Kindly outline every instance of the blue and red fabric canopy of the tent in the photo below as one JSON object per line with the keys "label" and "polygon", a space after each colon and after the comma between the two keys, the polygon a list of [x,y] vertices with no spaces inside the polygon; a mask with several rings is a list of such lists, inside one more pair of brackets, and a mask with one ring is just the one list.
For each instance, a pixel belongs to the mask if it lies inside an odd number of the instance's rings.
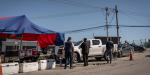
{"label": "blue and red fabric canopy of the tent", "polygon": [[41,48],[48,45],[64,45],[65,34],[52,31],[31,22],[25,15],[0,18],[0,38],[16,38],[23,34],[22,40],[38,41]]}

